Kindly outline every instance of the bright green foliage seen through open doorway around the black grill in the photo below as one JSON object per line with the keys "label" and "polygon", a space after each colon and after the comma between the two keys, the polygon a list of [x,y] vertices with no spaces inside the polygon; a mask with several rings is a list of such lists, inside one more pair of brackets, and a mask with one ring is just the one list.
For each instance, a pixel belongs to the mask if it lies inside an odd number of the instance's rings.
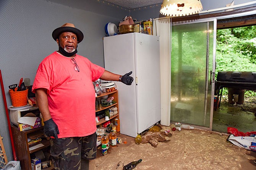
{"label": "bright green foliage seen through open doorway around the black grill", "polygon": [[[256,72],[256,26],[217,30],[216,78],[218,71]],[[227,89],[223,90],[227,95]],[[245,91],[245,97],[256,92]]]}

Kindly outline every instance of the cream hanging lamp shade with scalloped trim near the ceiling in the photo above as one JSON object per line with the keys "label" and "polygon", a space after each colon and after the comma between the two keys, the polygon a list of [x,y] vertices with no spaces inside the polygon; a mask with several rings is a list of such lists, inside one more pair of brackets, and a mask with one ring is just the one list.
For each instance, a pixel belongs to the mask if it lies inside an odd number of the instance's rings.
{"label": "cream hanging lamp shade with scalloped trim near the ceiling", "polygon": [[185,16],[203,10],[200,0],[164,0],[160,13],[166,16]]}

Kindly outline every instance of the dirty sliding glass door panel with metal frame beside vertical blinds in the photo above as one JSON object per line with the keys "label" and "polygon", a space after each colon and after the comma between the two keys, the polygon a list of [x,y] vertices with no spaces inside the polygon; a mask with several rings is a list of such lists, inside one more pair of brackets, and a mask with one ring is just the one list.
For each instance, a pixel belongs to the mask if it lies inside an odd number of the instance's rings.
{"label": "dirty sliding glass door panel with metal frame beside vertical blinds", "polygon": [[171,121],[211,130],[216,19],[172,25]]}

